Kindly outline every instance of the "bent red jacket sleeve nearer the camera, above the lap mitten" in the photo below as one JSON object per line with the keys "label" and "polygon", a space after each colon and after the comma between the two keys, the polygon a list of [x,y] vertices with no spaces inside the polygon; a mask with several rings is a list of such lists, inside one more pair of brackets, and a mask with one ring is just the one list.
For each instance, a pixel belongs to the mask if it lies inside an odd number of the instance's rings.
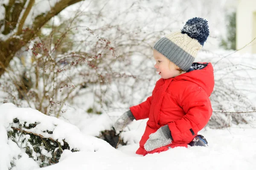
{"label": "bent red jacket sleeve nearer the camera, above the lap mitten", "polygon": [[186,115],[168,124],[173,141],[189,143],[208,123],[212,115],[209,96],[204,90],[190,92],[180,106]]}

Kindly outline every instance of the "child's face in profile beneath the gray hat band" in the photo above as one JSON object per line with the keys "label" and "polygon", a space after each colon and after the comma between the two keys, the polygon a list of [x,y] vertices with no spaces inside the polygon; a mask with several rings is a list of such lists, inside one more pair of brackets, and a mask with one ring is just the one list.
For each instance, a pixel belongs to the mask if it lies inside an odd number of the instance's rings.
{"label": "child's face in profile beneath the gray hat band", "polygon": [[156,64],[154,68],[157,69],[159,75],[163,79],[174,78],[180,74],[182,74],[178,69],[178,66],[175,63],[170,63],[169,59],[162,55],[157,50],[153,50],[154,59],[156,60]]}

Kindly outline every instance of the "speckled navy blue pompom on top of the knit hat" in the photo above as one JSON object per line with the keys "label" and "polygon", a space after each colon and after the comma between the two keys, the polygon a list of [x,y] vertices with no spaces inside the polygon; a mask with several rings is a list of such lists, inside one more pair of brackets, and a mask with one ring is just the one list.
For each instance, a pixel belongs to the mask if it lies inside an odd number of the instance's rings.
{"label": "speckled navy blue pompom on top of the knit hat", "polygon": [[181,33],[198,40],[198,42],[204,46],[204,42],[209,36],[209,26],[207,22],[208,21],[203,18],[194,17],[186,22]]}

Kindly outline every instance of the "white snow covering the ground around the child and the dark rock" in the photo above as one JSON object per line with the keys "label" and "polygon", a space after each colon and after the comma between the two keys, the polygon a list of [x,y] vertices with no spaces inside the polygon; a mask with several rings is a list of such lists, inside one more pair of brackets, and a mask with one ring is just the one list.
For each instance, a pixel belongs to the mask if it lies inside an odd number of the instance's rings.
{"label": "white snow covering the ground around the child and the dark rock", "polygon": [[[35,109],[18,108],[13,104],[0,105],[0,170],[8,170],[10,161],[17,157],[12,170],[36,170],[38,164],[29,158],[24,150],[17,147],[13,141],[7,139],[6,130],[10,130],[10,123],[14,118],[27,123],[41,122],[33,132],[44,134],[44,130],[56,127],[51,138],[65,139],[71,148],[81,151],[72,153],[64,150],[59,163],[41,168],[42,170],[254,170],[256,168],[256,129],[250,126],[230,127],[221,130],[205,128],[201,130],[208,142],[208,147],[177,147],[163,153],[146,156],[136,155],[138,140],[145,128],[146,120],[134,121],[123,132],[128,145],[120,146],[117,150],[107,142],[81,133],[74,125],[60,119],[44,115]],[[109,113],[115,115],[116,113]],[[98,119],[105,119],[109,115],[99,115]],[[114,117],[114,116],[113,116]],[[115,118],[105,119],[105,128],[111,127]],[[95,126],[100,122],[87,126],[87,131],[98,132]],[[86,126],[86,125],[85,125]]]}

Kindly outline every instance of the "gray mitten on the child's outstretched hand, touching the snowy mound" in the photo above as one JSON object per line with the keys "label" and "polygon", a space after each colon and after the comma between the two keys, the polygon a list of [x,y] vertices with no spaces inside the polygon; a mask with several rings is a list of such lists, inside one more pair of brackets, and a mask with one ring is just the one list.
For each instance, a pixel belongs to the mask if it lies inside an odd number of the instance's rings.
{"label": "gray mitten on the child's outstretched hand, touching the snowy mound", "polygon": [[128,124],[134,120],[134,115],[131,113],[131,110],[122,114],[115,122],[114,128],[116,131],[122,131]]}

